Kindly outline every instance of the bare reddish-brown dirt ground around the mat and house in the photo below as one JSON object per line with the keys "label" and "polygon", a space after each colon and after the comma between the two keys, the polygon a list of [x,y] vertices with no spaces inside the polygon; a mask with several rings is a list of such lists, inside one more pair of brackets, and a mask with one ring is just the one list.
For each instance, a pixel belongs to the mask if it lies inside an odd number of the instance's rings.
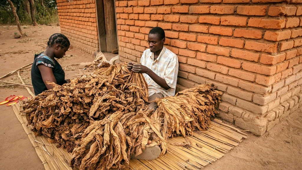
{"label": "bare reddish-brown dirt ground around the mat and house", "polygon": [[[17,27],[0,26],[0,77],[30,64],[33,54],[45,49],[50,35],[60,32],[59,27],[47,25],[23,26],[22,29],[28,37],[14,39]],[[65,70],[66,78],[76,78],[89,71],[83,70],[80,63],[92,61],[93,56],[76,48],[70,49],[72,51],[67,51],[67,56],[59,63]],[[21,76],[25,83],[31,84],[30,68],[23,70]],[[17,74],[1,80],[21,83]],[[4,83],[0,82],[0,85]],[[11,94],[30,96],[20,86],[0,87],[0,100]],[[11,107],[0,106],[0,109],[0,169],[44,169]],[[261,137],[249,133],[247,139],[204,170],[302,169],[301,112],[302,108],[298,109]]]}

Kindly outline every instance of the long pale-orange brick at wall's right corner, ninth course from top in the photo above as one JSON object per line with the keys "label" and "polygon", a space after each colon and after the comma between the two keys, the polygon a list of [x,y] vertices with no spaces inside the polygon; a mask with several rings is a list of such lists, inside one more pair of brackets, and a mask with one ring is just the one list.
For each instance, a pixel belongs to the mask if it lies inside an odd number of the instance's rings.
{"label": "long pale-orange brick at wall's right corner, ninth course from top", "polygon": [[261,95],[263,95],[265,93],[268,93],[271,90],[271,86],[264,87],[264,86],[259,85],[259,84],[248,83],[248,82],[245,82],[243,80],[239,80],[238,87],[240,87],[244,90],[248,90],[248,91],[251,91],[251,92],[261,94]]}

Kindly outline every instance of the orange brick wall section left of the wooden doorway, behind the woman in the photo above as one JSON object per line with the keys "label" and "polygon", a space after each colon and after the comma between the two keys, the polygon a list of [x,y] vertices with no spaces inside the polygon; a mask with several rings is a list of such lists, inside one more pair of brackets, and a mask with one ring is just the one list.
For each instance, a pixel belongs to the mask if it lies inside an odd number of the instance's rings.
{"label": "orange brick wall section left of the wooden doorway, behind the woman", "polygon": [[99,49],[95,0],[56,0],[61,33],[89,54]]}

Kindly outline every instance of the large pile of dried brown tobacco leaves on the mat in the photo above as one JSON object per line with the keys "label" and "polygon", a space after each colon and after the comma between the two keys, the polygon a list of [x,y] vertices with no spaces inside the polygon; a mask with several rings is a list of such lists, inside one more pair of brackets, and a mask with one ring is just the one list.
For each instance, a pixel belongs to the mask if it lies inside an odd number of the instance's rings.
{"label": "large pile of dried brown tobacco leaves on the mat", "polygon": [[72,152],[70,166],[89,170],[127,169],[130,155],[154,145],[165,154],[170,137],[208,128],[221,95],[213,84],[199,85],[156,99],[154,112],[143,74],[127,64],[102,63],[68,84],[49,84],[53,89],[24,103],[22,113],[36,135]]}

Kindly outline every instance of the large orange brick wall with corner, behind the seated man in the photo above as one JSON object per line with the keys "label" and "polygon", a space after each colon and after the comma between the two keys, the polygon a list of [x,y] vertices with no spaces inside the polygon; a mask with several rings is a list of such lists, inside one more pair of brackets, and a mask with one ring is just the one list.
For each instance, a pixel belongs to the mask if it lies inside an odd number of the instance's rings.
{"label": "large orange brick wall with corner, behind the seated man", "polygon": [[302,101],[302,0],[116,2],[119,55],[140,61],[153,27],[178,56],[177,90],[214,83],[218,116],[262,135]]}

